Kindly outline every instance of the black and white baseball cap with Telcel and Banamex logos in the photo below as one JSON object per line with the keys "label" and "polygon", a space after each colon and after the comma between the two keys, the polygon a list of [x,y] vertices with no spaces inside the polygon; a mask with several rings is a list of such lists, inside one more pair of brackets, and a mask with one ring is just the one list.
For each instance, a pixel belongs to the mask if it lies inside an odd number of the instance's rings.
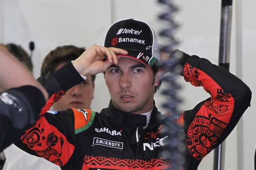
{"label": "black and white baseball cap with Telcel and Banamex logos", "polygon": [[160,51],[154,30],[144,21],[127,19],[113,23],[108,29],[104,47],[116,47],[128,51],[130,57],[146,66],[152,66],[160,61]]}

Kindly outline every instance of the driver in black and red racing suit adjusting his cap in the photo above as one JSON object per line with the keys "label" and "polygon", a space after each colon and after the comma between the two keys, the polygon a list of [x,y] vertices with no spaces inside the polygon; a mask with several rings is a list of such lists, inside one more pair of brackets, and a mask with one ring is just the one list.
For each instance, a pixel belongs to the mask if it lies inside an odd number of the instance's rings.
{"label": "driver in black and red racing suit adjusting his cap", "polygon": [[[184,111],[183,116],[186,169],[197,169],[250,106],[251,91],[228,70],[198,56],[178,50],[172,53],[178,54],[185,80],[203,86],[211,96]],[[109,107],[100,113],[74,108],[45,113],[17,145],[63,170],[172,166],[168,155],[160,154],[166,150],[169,137],[163,133],[168,129],[158,120],[163,115],[154,105],[162,74],[159,61],[158,43],[147,23],[133,19],[114,23],[106,33],[104,47],[93,45],[54,73],[56,80],[66,74],[67,84],[59,82],[67,89],[66,85],[77,80],[72,76],[104,72],[111,97]]]}

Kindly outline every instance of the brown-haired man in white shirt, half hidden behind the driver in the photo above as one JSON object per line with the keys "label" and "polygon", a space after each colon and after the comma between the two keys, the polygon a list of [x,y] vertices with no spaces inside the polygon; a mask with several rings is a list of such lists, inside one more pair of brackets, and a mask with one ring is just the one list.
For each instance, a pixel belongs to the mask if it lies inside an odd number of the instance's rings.
{"label": "brown-haired man in white shirt, half hidden behind the driver", "polygon": [[[50,51],[42,63],[41,76],[45,78],[47,73],[51,74],[51,72],[58,70],[68,61],[77,59],[80,55],[82,55],[82,53],[84,53],[84,51],[84,48],[76,47],[74,45],[59,46],[56,49]],[[47,101],[43,110],[48,111],[51,106],[51,110],[56,111],[65,110],[71,107],[76,109],[90,109],[92,100],[94,98],[95,78],[96,75],[86,76],[86,80],[70,88],[65,93],[65,95],[62,96],[62,98],[59,100],[57,99],[57,102],[54,100],[55,94],[52,95],[54,97]],[[42,80],[42,78],[39,78],[39,80]],[[48,87],[45,86],[45,88]],[[6,155],[6,163],[4,164],[3,170],[14,170],[20,167],[23,169],[36,168],[37,170],[60,169],[59,166],[56,166],[42,158],[37,158],[26,152],[23,152],[16,146],[9,147],[8,149],[4,150],[4,153]]]}

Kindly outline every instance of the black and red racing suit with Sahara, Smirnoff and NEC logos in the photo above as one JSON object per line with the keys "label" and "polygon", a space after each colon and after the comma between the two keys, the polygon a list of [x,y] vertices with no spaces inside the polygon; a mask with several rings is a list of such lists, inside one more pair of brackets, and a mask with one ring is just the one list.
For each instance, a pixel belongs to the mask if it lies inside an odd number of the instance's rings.
{"label": "black and red racing suit with Sahara, Smirnoff and NEC logos", "polygon": [[[197,169],[202,158],[226,139],[250,106],[251,91],[239,78],[207,59],[185,53],[183,58],[184,79],[203,86],[211,96],[180,117],[186,134],[186,169]],[[56,81],[67,74],[69,80],[65,82],[77,81],[70,76],[79,76],[71,63],[57,74],[42,78],[51,78],[49,81],[59,86],[57,91],[52,90],[45,110],[64,94],[63,89],[68,89],[64,81]],[[159,116],[163,115],[154,105],[148,127],[143,129],[145,115],[120,111],[111,101],[100,113],[74,108],[47,111],[16,145],[63,170],[165,169],[172,162],[159,154],[168,140]]]}

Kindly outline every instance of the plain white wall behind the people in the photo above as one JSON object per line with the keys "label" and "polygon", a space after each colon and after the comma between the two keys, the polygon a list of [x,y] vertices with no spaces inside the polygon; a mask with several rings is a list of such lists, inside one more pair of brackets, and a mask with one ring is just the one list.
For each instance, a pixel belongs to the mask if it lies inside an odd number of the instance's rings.
{"label": "plain white wall behind the people", "polygon": [[[0,1],[0,42],[18,43],[27,51],[29,41],[34,41],[33,52],[34,76],[40,75],[42,59],[46,54],[60,45],[73,44],[90,47],[103,45],[106,30],[112,23],[111,14],[114,11],[115,20],[135,18],[148,22],[156,32],[164,27],[157,19],[158,14],[165,11],[165,6],[156,0],[118,0],[114,1],[115,9],[111,8],[111,0],[1,0]],[[182,19],[178,30],[183,37],[179,49],[188,53],[205,57],[218,64],[220,5],[221,0],[176,0],[180,11],[176,14]],[[234,3],[234,6],[236,3]],[[244,170],[254,167],[254,150],[256,148],[256,1],[242,1],[242,80],[253,92],[252,107],[246,110],[242,117],[244,125]],[[236,36],[235,8],[233,8],[230,72],[236,74]],[[159,37],[160,43],[164,39]],[[182,83],[179,92],[183,99],[181,109],[191,109],[199,101],[209,96],[202,88],[194,88]],[[164,85],[163,85],[164,88]],[[103,75],[96,78],[95,99],[92,109],[100,111],[107,107],[109,95]],[[165,98],[160,92],[156,95],[156,104],[160,107]],[[101,107],[98,107],[101,106]],[[226,140],[225,170],[237,168],[236,129]],[[200,170],[212,170],[213,152],[200,164]]]}

